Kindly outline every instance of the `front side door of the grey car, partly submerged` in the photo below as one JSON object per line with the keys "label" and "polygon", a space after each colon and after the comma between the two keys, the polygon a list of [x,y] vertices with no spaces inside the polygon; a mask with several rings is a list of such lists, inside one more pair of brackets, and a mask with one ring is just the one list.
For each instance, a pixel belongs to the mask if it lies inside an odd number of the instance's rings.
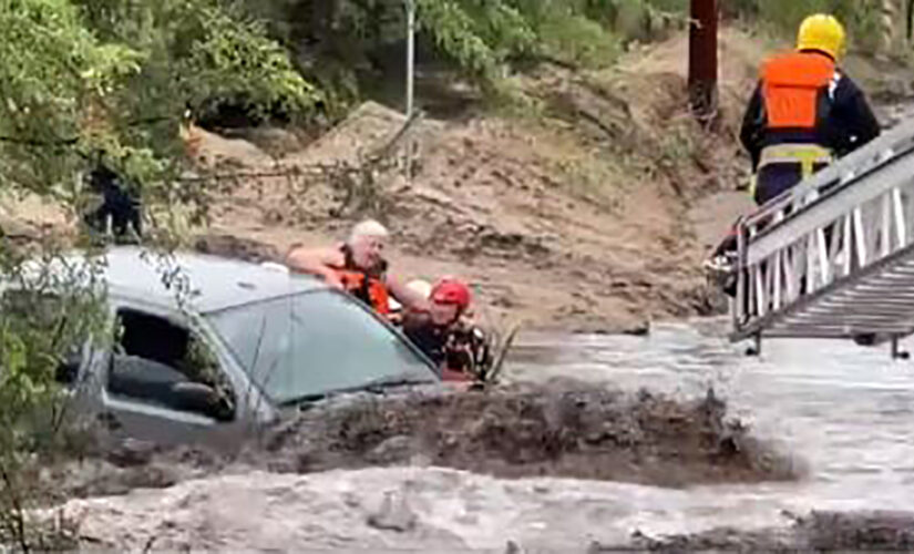
{"label": "front side door of the grey car, partly submerged", "polygon": [[234,361],[176,311],[113,298],[113,347],[102,357],[101,400],[119,439],[232,448],[251,429]]}

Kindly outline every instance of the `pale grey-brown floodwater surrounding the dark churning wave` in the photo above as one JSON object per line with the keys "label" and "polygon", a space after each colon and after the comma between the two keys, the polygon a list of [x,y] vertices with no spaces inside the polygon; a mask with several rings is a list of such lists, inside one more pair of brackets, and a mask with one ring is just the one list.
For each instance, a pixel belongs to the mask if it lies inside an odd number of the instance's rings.
{"label": "pale grey-brown floodwater surrounding the dark churning wave", "polygon": [[[746,345],[723,338],[726,330],[726,321],[702,321],[657,325],[648,337],[527,335],[507,375],[684,400],[705,398],[712,387],[728,417],[793,460],[797,479],[668,488],[624,476],[504,479],[427,460],[315,473],[228,472],[71,501],[68,510],[93,541],[121,547],[152,541],[163,548],[439,552],[505,552],[509,542],[586,552],[630,544],[635,532],[751,533],[785,530],[792,515],[813,511],[914,512],[914,362],[892,361],[886,348],[791,340],[766,342],[762,356],[750,358]],[[831,529],[833,521],[813,526]],[[912,529],[910,520],[897,526]],[[892,540],[886,544],[897,544]]]}

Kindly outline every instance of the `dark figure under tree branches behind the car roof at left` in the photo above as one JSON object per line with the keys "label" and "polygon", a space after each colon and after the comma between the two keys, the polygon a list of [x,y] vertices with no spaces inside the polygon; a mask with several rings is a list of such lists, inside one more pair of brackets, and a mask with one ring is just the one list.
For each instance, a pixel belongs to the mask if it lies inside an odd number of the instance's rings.
{"label": "dark figure under tree branches behind the car roof at left", "polygon": [[86,225],[105,233],[110,220],[115,237],[123,238],[129,227],[137,237],[143,236],[141,203],[125,189],[116,173],[100,163],[89,174],[89,186],[102,195],[102,205],[85,215]]}

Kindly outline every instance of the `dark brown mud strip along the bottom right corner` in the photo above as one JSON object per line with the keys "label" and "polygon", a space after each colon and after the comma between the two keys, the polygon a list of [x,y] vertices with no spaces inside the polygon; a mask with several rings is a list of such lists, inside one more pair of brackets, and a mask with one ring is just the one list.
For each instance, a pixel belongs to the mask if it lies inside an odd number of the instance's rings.
{"label": "dark brown mud strip along the bottom right corner", "polygon": [[[789,515],[789,514],[787,514]],[[894,512],[812,512],[791,516],[784,529],[739,531],[719,529],[695,535],[649,537],[639,532],[633,544],[594,544],[590,553],[618,552],[633,546],[648,552],[822,552],[914,550],[914,514]]]}

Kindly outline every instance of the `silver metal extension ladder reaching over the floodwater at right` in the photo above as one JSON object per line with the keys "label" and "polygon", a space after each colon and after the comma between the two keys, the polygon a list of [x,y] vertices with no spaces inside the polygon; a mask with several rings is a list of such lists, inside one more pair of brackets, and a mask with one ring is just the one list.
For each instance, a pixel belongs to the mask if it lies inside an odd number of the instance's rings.
{"label": "silver metal extension ladder reaching over the floodwater at right", "polygon": [[914,119],[738,224],[732,341],[914,334]]}

